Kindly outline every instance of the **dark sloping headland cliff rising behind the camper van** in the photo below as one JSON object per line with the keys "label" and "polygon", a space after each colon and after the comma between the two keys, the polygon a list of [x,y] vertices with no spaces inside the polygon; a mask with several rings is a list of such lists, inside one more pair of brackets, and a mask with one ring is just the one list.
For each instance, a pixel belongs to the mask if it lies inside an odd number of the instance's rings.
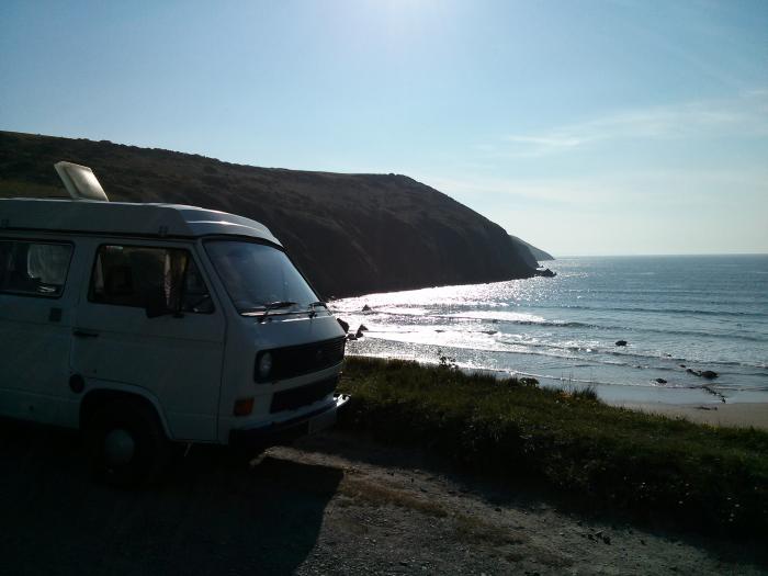
{"label": "dark sloping headland cliff rising behind the camper van", "polygon": [[112,201],[257,219],[323,297],[532,275],[507,233],[406,176],[233,165],[109,142],[0,132],[0,196],[66,195],[54,162],[90,166]]}

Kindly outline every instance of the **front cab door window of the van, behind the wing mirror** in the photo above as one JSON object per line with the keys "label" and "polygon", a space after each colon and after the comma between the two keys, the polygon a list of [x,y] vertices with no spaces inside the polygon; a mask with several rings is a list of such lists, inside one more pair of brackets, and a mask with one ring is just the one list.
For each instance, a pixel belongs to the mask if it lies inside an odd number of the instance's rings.
{"label": "front cab door window of the van, behind the wing mirror", "polygon": [[179,248],[101,246],[88,300],[144,308],[162,302],[169,309],[210,314],[213,302],[190,252]]}

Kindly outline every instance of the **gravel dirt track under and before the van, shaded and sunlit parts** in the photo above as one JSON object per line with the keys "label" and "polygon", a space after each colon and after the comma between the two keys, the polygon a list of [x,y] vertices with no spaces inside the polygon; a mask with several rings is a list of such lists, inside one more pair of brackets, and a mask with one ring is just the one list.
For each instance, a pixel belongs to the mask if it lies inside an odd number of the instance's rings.
{"label": "gravel dirt track under and before the van, shaded and sunlit parts", "polygon": [[0,445],[2,574],[764,573],[734,544],[578,517],[341,434],[249,468],[194,450],[145,493],[92,484],[76,436],[2,422]]}

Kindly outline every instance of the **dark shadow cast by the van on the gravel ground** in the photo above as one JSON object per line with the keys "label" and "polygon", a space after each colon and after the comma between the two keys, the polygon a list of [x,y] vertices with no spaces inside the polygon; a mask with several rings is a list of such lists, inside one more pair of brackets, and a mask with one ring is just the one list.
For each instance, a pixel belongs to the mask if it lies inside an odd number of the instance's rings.
{"label": "dark shadow cast by the van on the gravel ground", "polygon": [[0,421],[3,574],[291,574],[342,473],[199,450],[162,487],[94,484],[77,434]]}

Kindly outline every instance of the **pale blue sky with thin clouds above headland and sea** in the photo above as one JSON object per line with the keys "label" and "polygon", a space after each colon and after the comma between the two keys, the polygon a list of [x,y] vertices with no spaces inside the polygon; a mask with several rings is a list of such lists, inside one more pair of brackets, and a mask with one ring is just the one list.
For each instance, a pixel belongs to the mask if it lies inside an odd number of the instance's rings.
{"label": "pale blue sky with thin clouds above headland and sea", "polygon": [[768,2],[0,2],[0,129],[404,173],[564,255],[768,252]]}

